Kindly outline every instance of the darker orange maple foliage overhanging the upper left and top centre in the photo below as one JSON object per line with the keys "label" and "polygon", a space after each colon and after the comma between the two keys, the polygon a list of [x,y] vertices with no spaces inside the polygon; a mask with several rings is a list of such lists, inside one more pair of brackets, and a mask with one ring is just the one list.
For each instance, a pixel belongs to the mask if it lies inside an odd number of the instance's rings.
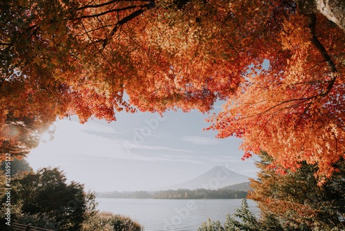
{"label": "darker orange maple foliage overhanging the upper left and top centre", "polygon": [[1,141],[17,142],[7,135],[9,113],[45,124],[72,114],[81,122],[91,116],[112,121],[115,111],[134,107],[208,111],[234,91],[246,65],[230,70],[226,58],[239,59],[213,55],[217,39],[227,40],[198,20],[198,10],[166,3],[141,17],[151,3],[132,4],[1,2]]}

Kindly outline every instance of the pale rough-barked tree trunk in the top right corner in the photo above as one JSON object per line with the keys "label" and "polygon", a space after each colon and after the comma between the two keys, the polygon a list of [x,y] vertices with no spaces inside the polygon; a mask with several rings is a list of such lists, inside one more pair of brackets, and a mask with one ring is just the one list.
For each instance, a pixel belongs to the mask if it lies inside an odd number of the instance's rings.
{"label": "pale rough-barked tree trunk in the top right corner", "polygon": [[345,33],[345,0],[295,0],[306,14],[320,13],[333,21]]}

